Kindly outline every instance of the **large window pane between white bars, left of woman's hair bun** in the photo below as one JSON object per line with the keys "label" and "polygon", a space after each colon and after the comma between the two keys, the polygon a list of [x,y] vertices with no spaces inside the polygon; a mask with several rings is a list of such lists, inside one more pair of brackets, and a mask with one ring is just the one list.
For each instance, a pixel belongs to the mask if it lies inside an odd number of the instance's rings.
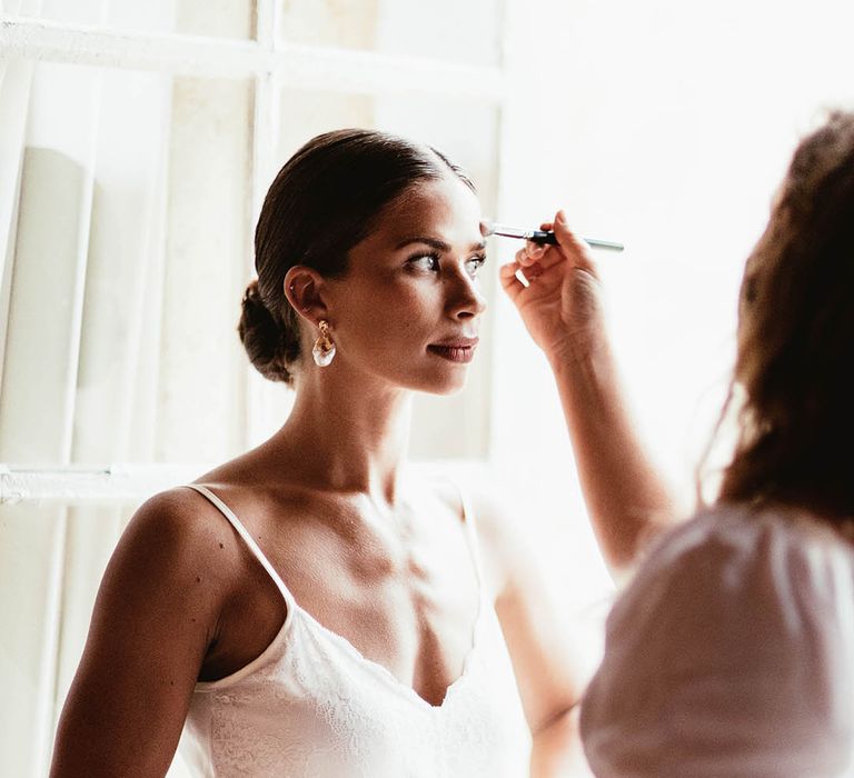
{"label": "large window pane between white bars, left of woman's hair bun", "polygon": [[36,66],[0,296],[0,460],[242,448],[251,100],[245,81]]}

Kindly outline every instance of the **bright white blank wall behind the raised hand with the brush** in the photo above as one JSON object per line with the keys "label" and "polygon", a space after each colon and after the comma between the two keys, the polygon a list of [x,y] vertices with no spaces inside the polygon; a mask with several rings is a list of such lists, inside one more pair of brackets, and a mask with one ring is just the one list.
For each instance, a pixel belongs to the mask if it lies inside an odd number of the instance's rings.
{"label": "bright white blank wall behind the raised hand with the brush", "polygon": [[[854,6],[518,0],[509,14],[499,216],[534,226],[564,207],[583,235],[626,243],[599,256],[616,349],[648,441],[689,495],[772,192],[818,110],[854,104]],[[575,597],[575,572],[605,579],[556,395],[506,302],[497,329],[493,456],[537,496],[530,520],[567,539],[554,565]]]}

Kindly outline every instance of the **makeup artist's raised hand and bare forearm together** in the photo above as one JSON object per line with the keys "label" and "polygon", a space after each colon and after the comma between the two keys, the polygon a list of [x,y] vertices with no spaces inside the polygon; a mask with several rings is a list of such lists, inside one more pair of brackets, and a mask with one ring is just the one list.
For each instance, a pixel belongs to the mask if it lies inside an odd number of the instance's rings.
{"label": "makeup artist's raised hand and bare forearm together", "polygon": [[557,246],[527,243],[502,267],[502,286],[546,352],[590,521],[615,579],[623,580],[648,539],[683,512],[629,412],[587,245],[563,211],[543,229],[555,230]]}

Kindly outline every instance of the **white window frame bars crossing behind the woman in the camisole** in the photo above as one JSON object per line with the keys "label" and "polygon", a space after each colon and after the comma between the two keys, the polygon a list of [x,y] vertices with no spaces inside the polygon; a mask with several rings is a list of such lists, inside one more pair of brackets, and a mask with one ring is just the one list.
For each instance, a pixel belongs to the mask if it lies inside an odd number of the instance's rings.
{"label": "white window frame bars crossing behind the woman in the camisole", "polygon": [[[504,3],[497,3],[506,18]],[[278,3],[257,0],[256,39],[231,40],[185,34],[153,34],[97,26],[61,23],[0,13],[0,61],[31,67],[59,62],[112,69],[167,72],[173,76],[255,80],[252,138],[252,220],[257,218],[278,132],[278,94],[298,87],[344,94],[426,94],[459,98],[493,106],[507,98],[503,63],[474,66],[425,57],[389,56],[321,46],[298,46],[278,39]],[[500,149],[499,149],[500,153]],[[14,229],[14,207],[0,235]],[[4,260],[3,260],[4,261]],[[82,285],[80,293],[82,293]],[[82,303],[82,300],[80,300]],[[4,337],[3,337],[4,339]],[[247,426],[251,436],[258,382],[248,379]],[[58,462],[31,468],[0,465],[0,505],[61,501],[132,502],[176,482],[191,480],[207,463],[103,463],[80,468]]]}

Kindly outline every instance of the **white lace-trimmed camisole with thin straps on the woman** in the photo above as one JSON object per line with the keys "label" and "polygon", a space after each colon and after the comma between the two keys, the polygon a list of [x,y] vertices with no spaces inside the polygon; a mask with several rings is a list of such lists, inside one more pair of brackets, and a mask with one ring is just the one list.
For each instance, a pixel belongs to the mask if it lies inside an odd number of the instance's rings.
{"label": "white lace-trimmed camisole with thin straps on the woman", "polygon": [[181,752],[195,776],[519,778],[530,736],[466,516],[479,608],[461,676],[434,706],[297,605],[252,537],[216,495],[287,605],[278,635],[237,672],[199,682]]}

